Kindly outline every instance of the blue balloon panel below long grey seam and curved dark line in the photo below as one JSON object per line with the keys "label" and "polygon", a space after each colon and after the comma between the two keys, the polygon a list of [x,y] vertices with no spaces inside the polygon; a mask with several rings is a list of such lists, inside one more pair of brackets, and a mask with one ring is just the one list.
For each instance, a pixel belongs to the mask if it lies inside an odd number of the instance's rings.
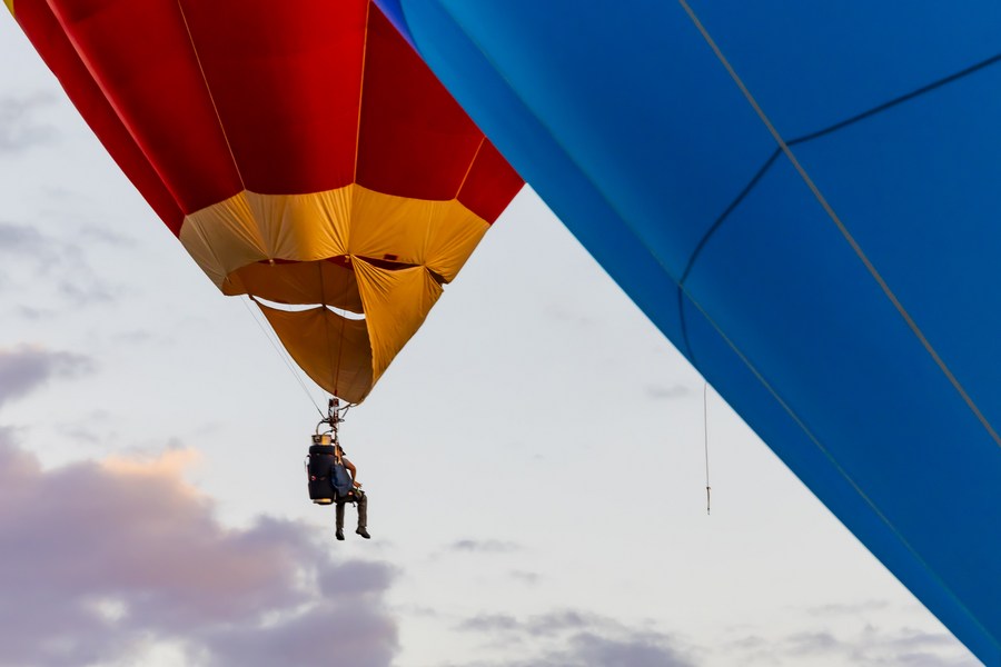
{"label": "blue balloon panel below long grey seam and curved dark line", "polygon": [[998,446],[784,158],[687,289],[906,548],[973,617],[997,614]]}

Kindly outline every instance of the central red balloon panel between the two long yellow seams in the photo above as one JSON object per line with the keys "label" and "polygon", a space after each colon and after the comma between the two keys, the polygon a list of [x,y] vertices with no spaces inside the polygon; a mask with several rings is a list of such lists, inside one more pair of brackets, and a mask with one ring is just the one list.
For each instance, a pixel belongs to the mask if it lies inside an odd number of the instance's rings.
{"label": "central red balloon panel between the two long yellow seams", "polygon": [[182,0],[245,186],[354,180],[367,0]]}

